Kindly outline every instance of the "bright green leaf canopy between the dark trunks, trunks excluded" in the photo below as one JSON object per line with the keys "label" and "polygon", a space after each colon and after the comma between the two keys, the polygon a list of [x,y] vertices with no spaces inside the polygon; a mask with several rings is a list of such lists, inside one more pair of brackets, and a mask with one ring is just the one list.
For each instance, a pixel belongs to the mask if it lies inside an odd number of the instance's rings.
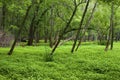
{"label": "bright green leaf canopy between the dark trunks, trunks excluded", "polygon": [[[77,4],[82,0],[76,0]],[[83,0],[84,1],[84,0]],[[102,1],[102,2],[100,2]],[[91,15],[91,11],[93,9],[93,5],[96,0],[91,0],[90,6],[88,8],[87,16],[83,22],[82,28],[86,24],[88,18]],[[105,2],[105,3],[104,3]],[[106,4],[106,2],[110,4]],[[95,13],[91,20],[90,25],[88,26],[88,30],[86,34],[91,35],[107,35],[109,26],[110,26],[110,6],[111,2],[115,2],[115,33],[118,33],[120,30],[119,27],[119,0],[99,0],[98,5],[96,7]],[[117,4],[116,4],[117,3]],[[73,18],[68,31],[71,29],[77,29],[80,24],[80,20],[82,17],[83,10],[85,8],[86,3],[82,3],[78,9],[75,17]],[[74,10],[74,0],[0,0],[0,7],[5,6],[5,31],[9,31],[11,27],[14,27],[10,32],[16,34],[16,28],[20,26],[24,26],[21,37],[28,37],[29,28],[31,25],[32,18],[34,13],[36,12],[36,6],[39,6],[38,13],[36,13],[36,18],[34,20],[34,26],[36,27],[34,37],[39,37],[43,39],[44,37],[50,37],[51,34],[53,38],[55,38],[56,34],[61,33],[65,28],[72,12]],[[23,21],[23,17],[25,16],[26,10],[28,6],[32,6],[28,17],[25,21],[25,25],[21,25]],[[47,10],[47,11],[46,11]],[[51,16],[51,10],[53,10],[53,14]],[[45,12],[46,11],[46,12]],[[45,12],[45,13],[44,13]],[[1,14],[2,16],[2,14]],[[2,20],[2,19],[1,19]],[[52,27],[51,27],[51,21]],[[38,23],[38,24],[36,24]],[[1,23],[2,24],[2,23]],[[117,24],[117,25],[116,25]],[[69,32],[65,35],[65,37],[70,37],[76,33],[77,30]],[[39,36],[36,36],[39,35]],[[88,36],[86,35],[86,36]],[[96,35],[97,37],[97,35]],[[35,39],[35,38],[34,38]]]}

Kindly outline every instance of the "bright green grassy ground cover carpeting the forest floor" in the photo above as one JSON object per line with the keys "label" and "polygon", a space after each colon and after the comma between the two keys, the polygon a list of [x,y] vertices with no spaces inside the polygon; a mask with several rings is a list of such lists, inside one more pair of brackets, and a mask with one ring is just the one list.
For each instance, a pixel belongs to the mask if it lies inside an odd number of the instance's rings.
{"label": "bright green grassy ground cover carpeting the forest floor", "polygon": [[71,54],[67,43],[52,62],[45,61],[51,50],[47,46],[17,46],[12,56],[9,48],[0,48],[0,80],[120,80],[119,45],[105,52],[104,46],[84,43]]}

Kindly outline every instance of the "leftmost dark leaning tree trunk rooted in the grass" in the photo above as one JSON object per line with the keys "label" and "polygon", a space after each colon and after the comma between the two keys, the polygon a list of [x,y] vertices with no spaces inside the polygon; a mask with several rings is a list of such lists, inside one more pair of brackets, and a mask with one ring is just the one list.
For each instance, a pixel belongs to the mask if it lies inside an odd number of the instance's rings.
{"label": "leftmost dark leaning tree trunk rooted in the grass", "polygon": [[16,35],[16,37],[15,37],[15,40],[14,40],[14,42],[13,42],[13,44],[12,44],[12,47],[11,47],[10,51],[8,52],[8,55],[11,55],[11,54],[13,53],[13,50],[14,50],[15,45],[16,45],[16,42],[17,42],[17,40],[18,40],[18,38],[19,38],[19,36],[20,36],[20,33],[21,33],[22,29],[23,29],[23,25],[24,25],[25,22],[26,22],[26,19],[27,19],[27,16],[28,16],[28,14],[29,14],[29,11],[30,11],[30,9],[31,9],[31,6],[32,6],[32,5],[30,5],[30,6],[28,7],[27,11],[26,11],[25,17],[23,18],[23,22],[21,23],[21,25],[20,25],[20,27],[19,27],[18,33],[17,33],[17,35]]}

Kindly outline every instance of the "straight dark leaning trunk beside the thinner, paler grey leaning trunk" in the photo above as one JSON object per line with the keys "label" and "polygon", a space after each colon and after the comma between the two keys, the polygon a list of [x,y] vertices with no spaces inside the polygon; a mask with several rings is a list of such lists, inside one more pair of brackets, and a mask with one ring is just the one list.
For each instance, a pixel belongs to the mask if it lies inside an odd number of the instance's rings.
{"label": "straight dark leaning trunk beside the thinner, paler grey leaning trunk", "polygon": [[78,40],[78,37],[79,37],[79,33],[80,33],[80,31],[81,31],[81,28],[82,28],[83,21],[84,21],[84,18],[85,18],[85,16],[86,16],[86,13],[87,13],[87,9],[88,9],[89,3],[90,3],[90,0],[87,1],[85,10],[84,10],[84,12],[83,12],[83,16],[82,16],[82,19],[81,19],[81,21],[80,21],[80,26],[79,26],[79,28],[78,28],[76,37],[75,37],[75,39],[74,39],[73,47],[72,47],[72,49],[71,49],[71,52],[72,52],[72,53],[74,52],[74,49],[75,49],[75,46],[76,46],[76,43],[77,43],[77,40]]}

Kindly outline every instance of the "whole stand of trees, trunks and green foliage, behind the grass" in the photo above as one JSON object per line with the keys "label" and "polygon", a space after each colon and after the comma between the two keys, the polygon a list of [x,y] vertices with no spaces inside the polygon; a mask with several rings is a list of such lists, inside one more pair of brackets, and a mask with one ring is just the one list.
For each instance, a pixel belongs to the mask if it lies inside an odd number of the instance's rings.
{"label": "whole stand of trees, trunks and green foliage, behind the grass", "polygon": [[120,40],[119,0],[0,0],[0,30],[28,46],[44,40],[52,48],[72,40],[71,52],[82,41],[105,44],[105,51]]}

